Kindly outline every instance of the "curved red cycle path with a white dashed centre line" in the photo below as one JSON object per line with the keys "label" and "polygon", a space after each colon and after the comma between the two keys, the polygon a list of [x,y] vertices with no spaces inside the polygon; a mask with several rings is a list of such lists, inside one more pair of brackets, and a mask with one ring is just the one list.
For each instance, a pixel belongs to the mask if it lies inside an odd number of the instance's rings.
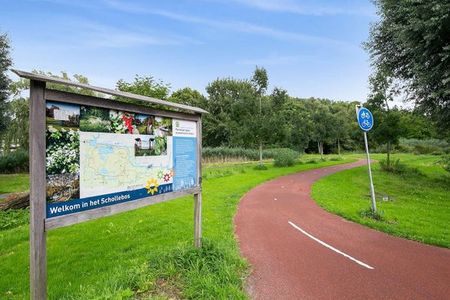
{"label": "curved red cycle path with a white dashed centre line", "polygon": [[314,181],[363,164],[281,177],[242,198],[235,225],[252,298],[450,299],[450,250],[346,221],[311,199]]}

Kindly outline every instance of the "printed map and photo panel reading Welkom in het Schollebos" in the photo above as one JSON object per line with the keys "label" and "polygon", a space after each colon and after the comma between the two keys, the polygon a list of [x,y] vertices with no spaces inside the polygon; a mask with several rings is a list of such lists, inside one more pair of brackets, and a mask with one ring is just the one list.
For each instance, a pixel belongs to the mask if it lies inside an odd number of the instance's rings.
{"label": "printed map and photo panel reading Welkom in het Schollebos", "polygon": [[47,218],[197,185],[196,122],[46,101]]}

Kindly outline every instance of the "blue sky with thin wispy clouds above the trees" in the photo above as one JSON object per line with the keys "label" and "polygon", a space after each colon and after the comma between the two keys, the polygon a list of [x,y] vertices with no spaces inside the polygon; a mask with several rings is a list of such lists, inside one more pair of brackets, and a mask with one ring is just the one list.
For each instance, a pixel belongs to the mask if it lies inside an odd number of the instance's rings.
{"label": "blue sky with thin wispy clouds above the trees", "polygon": [[364,101],[361,43],[377,20],[369,0],[0,0],[14,67],[83,74],[114,88],[152,75],[206,94],[216,78],[250,78],[297,97]]}

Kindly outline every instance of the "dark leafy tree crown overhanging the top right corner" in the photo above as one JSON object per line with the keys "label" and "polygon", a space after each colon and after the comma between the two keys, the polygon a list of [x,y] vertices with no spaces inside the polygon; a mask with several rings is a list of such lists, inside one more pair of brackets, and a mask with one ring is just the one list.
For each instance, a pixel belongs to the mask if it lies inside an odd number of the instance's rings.
{"label": "dark leafy tree crown overhanging the top right corner", "polygon": [[366,43],[375,73],[450,129],[450,2],[374,0],[380,21]]}

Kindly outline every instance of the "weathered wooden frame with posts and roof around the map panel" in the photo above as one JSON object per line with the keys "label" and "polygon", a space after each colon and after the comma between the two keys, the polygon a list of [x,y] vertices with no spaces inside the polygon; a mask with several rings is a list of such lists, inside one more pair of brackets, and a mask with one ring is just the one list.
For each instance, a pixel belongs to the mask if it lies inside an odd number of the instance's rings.
{"label": "weathered wooden frame with posts and roof around the map panel", "polygon": [[[201,247],[202,237],[202,114],[207,113],[201,108],[167,102],[141,95],[95,87],[87,84],[48,77],[44,75],[13,70],[17,75],[30,79],[30,297],[31,299],[47,298],[47,247],[46,232],[50,229],[68,226],[104,216],[113,215],[128,210],[168,201],[186,195],[194,195],[194,243]],[[165,105],[174,110],[153,109],[149,106],[134,105],[107,98],[85,96],[81,94],[62,92],[46,88],[46,82],[88,89],[109,94],[146,101],[154,105]],[[153,195],[133,201],[102,206],[72,214],[46,217],[46,101],[58,101],[79,105],[123,110],[170,117],[196,122],[197,130],[197,185],[193,188]]]}

